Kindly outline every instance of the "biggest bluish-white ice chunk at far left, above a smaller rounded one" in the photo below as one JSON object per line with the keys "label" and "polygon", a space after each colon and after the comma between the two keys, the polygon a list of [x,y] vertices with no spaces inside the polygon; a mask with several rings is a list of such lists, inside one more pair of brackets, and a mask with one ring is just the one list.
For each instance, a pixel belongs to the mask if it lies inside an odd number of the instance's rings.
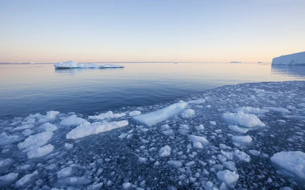
{"label": "biggest bluish-white ice chunk at far left, above a smaller rounded one", "polygon": [[17,147],[19,149],[36,149],[45,145],[52,138],[52,135],[52,131],[45,131],[35,135],[30,135],[23,142],[19,143]]}

